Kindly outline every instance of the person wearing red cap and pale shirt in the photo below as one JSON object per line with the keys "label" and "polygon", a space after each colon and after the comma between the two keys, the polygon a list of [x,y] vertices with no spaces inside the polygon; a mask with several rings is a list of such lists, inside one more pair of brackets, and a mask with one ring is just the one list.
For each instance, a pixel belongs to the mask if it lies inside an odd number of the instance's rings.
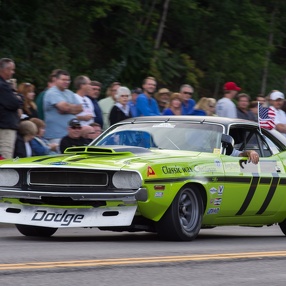
{"label": "person wearing red cap and pale shirt", "polygon": [[216,114],[222,117],[237,118],[236,106],[232,99],[241,90],[235,82],[227,82],[223,86],[224,96],[216,105]]}

